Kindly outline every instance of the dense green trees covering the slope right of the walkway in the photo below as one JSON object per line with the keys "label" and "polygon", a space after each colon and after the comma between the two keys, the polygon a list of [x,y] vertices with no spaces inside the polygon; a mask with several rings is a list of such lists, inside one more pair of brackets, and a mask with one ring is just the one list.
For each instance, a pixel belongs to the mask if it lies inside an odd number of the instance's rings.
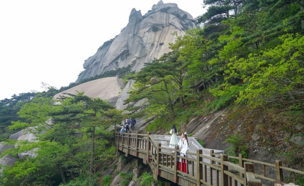
{"label": "dense green trees covering the slope right of the walkway", "polygon": [[[290,148],[284,149],[282,157],[302,170],[303,143],[288,140],[293,135],[303,136],[303,2],[204,3],[209,5],[208,11],[197,18],[204,26],[176,36],[171,52],[130,77],[136,83],[126,102],[135,105],[144,101],[128,109],[134,116],[157,116],[147,127],[150,131],[169,129],[171,124],[183,130],[191,118],[226,107],[258,110],[268,120],[260,128],[246,126],[251,129],[247,134],[268,127],[288,134],[284,141]],[[271,140],[276,138],[267,136],[265,141],[275,143]],[[227,142],[238,146],[239,139],[228,137]],[[241,146],[229,152],[246,154],[248,147]]]}

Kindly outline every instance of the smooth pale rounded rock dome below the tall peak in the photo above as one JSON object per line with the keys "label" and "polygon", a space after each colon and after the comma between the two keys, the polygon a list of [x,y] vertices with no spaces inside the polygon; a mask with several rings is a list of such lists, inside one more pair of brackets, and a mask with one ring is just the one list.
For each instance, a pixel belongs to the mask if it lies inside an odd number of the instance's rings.
{"label": "smooth pale rounded rock dome below the tall peak", "polygon": [[114,106],[119,98],[121,87],[123,86],[124,83],[121,79],[117,77],[108,77],[80,84],[60,92],[54,97],[58,98],[63,95],[63,93],[77,94],[77,92],[84,92],[86,96],[99,97],[107,100],[112,106]]}

